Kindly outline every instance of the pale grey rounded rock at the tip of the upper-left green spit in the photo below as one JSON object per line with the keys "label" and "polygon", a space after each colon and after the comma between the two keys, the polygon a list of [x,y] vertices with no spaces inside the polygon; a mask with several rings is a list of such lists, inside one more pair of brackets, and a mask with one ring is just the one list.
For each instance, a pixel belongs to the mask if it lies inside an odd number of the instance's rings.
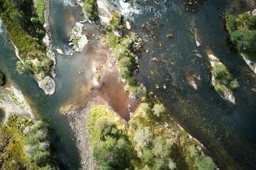
{"label": "pale grey rounded rock at the tip of the upper-left green spit", "polygon": [[38,86],[48,95],[53,95],[55,93],[56,84],[50,77],[45,77],[42,81],[38,81]]}

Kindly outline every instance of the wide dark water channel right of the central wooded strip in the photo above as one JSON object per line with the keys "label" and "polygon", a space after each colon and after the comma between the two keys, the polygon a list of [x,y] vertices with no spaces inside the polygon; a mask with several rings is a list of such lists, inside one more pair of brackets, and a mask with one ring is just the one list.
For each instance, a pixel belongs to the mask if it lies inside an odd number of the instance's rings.
{"label": "wide dark water channel right of the central wooded strip", "polygon": [[[233,13],[252,8],[231,2],[201,1],[196,13],[186,11],[183,1],[175,0],[138,6],[142,14],[135,16],[134,25],[145,41],[145,50],[149,50],[142,54],[138,77],[166,104],[178,123],[206,146],[220,169],[256,169],[256,93],[252,91],[256,78],[228,44],[224,21],[218,16],[229,8]],[[195,30],[201,47],[196,47]],[[171,33],[174,38],[166,38]],[[235,106],[223,101],[210,86],[206,50],[238,79]],[[154,57],[158,62],[151,60]],[[188,86],[186,77],[191,75],[198,91]]]}

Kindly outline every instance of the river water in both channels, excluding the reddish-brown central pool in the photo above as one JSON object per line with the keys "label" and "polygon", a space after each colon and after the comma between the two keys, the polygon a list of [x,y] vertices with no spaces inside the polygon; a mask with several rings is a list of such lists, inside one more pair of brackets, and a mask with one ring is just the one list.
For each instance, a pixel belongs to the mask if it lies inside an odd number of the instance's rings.
{"label": "river water in both channels, excluding the reddish-brown central pool", "polygon": [[[68,51],[67,35],[80,18],[77,13],[80,8],[65,0],[51,0],[50,5],[53,48]],[[149,50],[140,58],[138,79],[161,99],[183,128],[206,146],[220,169],[256,169],[256,95],[251,90],[256,79],[238,52],[227,42],[224,21],[218,16],[227,8],[230,8],[230,3],[221,0],[201,1],[195,13],[186,11],[183,1],[175,0],[159,1],[159,5],[148,2],[137,6],[140,13],[134,14],[132,26],[142,36],[145,50]],[[245,8],[233,10],[239,11],[245,11]],[[143,23],[146,26],[144,29]],[[202,47],[196,47],[195,29]],[[1,30],[4,30],[3,26]],[[51,141],[60,166],[63,169],[78,169],[79,154],[60,108],[71,101],[80,105],[86,100],[90,91],[92,56],[86,49],[74,56],[56,54],[57,89],[53,96],[46,96],[32,77],[18,75],[15,71],[17,58],[8,35],[1,30],[1,69],[8,81],[13,81],[22,89],[33,108],[49,120],[55,134]],[[166,38],[170,33],[174,33],[173,39]],[[210,86],[206,49],[212,50],[238,79],[240,87],[235,90],[235,106],[223,101]],[[160,62],[151,60],[153,57]],[[78,77],[81,70],[85,70],[84,77]],[[188,86],[188,75],[196,77],[198,91]],[[77,84],[80,86],[78,89]],[[156,85],[159,89],[155,88]],[[81,89],[83,92],[79,93]],[[82,101],[73,101],[73,96],[79,95],[83,97]]]}

